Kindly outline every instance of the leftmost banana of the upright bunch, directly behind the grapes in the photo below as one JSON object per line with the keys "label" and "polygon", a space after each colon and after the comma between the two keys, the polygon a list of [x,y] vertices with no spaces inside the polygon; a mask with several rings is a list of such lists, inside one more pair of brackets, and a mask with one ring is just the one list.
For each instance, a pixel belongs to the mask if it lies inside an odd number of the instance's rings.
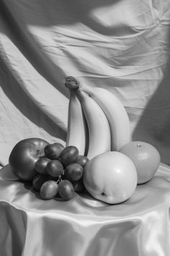
{"label": "leftmost banana of the upright bunch, directly behind the grapes", "polygon": [[78,148],[79,155],[84,155],[85,153],[87,137],[86,129],[86,119],[79,98],[77,98],[75,90],[70,90],[66,147],[74,145]]}

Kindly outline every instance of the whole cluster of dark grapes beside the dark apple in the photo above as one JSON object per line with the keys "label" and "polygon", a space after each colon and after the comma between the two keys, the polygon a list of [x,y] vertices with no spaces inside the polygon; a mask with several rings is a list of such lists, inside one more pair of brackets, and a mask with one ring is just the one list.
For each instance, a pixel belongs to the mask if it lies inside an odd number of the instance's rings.
{"label": "whole cluster of dark grapes beside the dark apple", "polygon": [[49,200],[61,197],[70,200],[74,192],[84,192],[84,166],[89,161],[84,155],[79,155],[75,146],[64,147],[56,142],[48,144],[35,163],[37,175],[32,181],[40,197]]}

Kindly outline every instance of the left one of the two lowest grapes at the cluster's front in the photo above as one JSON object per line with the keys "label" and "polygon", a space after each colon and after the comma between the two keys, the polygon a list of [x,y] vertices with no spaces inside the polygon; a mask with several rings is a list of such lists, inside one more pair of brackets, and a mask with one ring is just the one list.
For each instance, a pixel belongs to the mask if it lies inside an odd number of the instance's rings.
{"label": "left one of the two lowest grapes at the cluster's front", "polygon": [[40,188],[40,196],[45,200],[52,199],[57,195],[57,192],[58,184],[52,180],[43,183]]}

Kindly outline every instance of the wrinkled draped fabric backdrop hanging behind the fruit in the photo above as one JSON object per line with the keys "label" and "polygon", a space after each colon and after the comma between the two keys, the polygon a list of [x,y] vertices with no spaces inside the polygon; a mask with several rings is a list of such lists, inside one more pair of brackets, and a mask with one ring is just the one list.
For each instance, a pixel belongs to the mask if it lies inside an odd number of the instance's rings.
{"label": "wrinkled draped fabric backdrop hanging behind the fruit", "polygon": [[24,138],[65,144],[66,75],[112,91],[170,163],[169,19],[169,0],[1,0],[1,166]]}

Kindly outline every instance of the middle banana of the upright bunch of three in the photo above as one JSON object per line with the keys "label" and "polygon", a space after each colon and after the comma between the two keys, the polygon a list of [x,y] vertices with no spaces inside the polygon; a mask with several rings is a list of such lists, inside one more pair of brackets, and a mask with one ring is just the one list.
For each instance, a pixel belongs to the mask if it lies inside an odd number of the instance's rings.
{"label": "middle banana of the upright bunch of three", "polygon": [[86,122],[89,128],[89,148],[87,158],[91,159],[101,153],[110,150],[109,122],[102,108],[82,90],[76,90],[81,106],[84,110]]}

